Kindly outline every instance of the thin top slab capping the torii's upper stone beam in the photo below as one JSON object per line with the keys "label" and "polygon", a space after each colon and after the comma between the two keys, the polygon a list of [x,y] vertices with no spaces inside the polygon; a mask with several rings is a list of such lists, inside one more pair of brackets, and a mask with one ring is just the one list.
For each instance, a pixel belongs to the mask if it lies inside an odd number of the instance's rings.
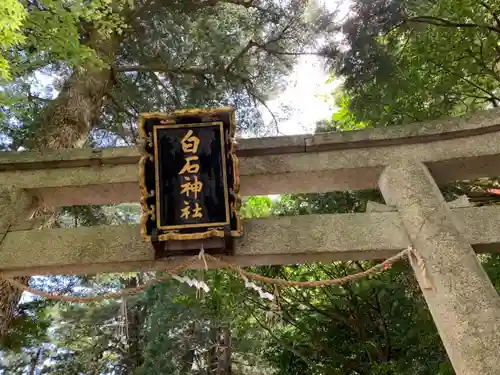
{"label": "thin top slab capping the torii's upper stone beam", "polygon": [[[497,132],[500,129],[500,109],[476,112],[461,117],[450,117],[424,123],[371,128],[350,132],[332,132],[296,136],[238,139],[238,154],[242,157],[284,154],[296,152],[316,152],[322,149],[336,150],[367,148],[374,146],[421,143],[450,138],[474,136]],[[427,137],[424,139],[424,137]],[[373,141],[386,141],[376,143]],[[315,149],[316,147],[316,149]],[[2,152],[0,171],[94,166],[99,164],[133,164],[139,160],[136,147],[110,149],[60,149],[44,151]]]}

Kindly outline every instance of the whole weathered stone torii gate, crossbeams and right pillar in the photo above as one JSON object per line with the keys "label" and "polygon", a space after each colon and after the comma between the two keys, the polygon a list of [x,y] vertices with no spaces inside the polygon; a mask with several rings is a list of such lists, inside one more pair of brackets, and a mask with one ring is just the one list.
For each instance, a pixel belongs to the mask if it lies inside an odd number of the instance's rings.
{"label": "whole weathered stone torii gate, crossbeams and right pillar", "polygon": [[[500,297],[475,254],[500,251],[500,206],[450,207],[438,188],[500,175],[499,110],[387,129],[246,139],[237,153],[243,196],[379,187],[388,207],[251,220],[226,260],[249,266],[382,259],[411,245],[425,261],[432,288],[423,293],[456,373],[500,374]],[[161,270],[181,262],[154,260],[138,226],[33,230],[27,219],[37,204],[138,202],[138,160],[135,148],[2,153],[0,275]]]}

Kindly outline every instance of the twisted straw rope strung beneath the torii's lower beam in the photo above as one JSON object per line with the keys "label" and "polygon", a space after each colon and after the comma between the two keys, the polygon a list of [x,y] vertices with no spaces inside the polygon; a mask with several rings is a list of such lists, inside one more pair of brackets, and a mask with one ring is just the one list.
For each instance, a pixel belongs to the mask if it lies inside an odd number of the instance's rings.
{"label": "twisted straw rope strung beneath the torii's lower beam", "polygon": [[147,283],[140,285],[138,287],[135,287],[135,288],[122,289],[118,292],[106,293],[106,294],[102,294],[102,295],[98,295],[98,296],[75,297],[75,296],[59,295],[56,293],[49,293],[49,292],[45,292],[43,290],[31,288],[31,287],[26,286],[26,285],[14,280],[14,279],[11,279],[11,278],[8,278],[6,280],[8,282],[10,282],[13,286],[15,286],[15,287],[17,287],[25,292],[28,292],[28,293],[31,293],[31,294],[34,294],[34,295],[37,295],[40,297],[44,297],[44,298],[47,298],[50,300],[77,302],[77,303],[78,302],[79,303],[90,303],[90,302],[97,302],[97,301],[103,301],[103,300],[108,300],[108,299],[118,299],[118,298],[121,298],[124,296],[140,293],[140,292],[144,291],[144,289],[146,287],[148,287],[149,285],[156,284],[160,281],[168,280],[171,278],[172,275],[177,275],[177,274],[181,273],[187,267],[189,267],[191,264],[195,263],[198,260],[202,260],[205,264],[205,269],[208,269],[205,258],[212,260],[214,263],[218,264],[220,266],[220,268],[226,268],[226,269],[230,269],[232,271],[235,271],[239,275],[244,276],[247,279],[253,279],[253,280],[256,280],[256,281],[259,281],[262,283],[266,283],[266,284],[271,284],[271,285],[315,288],[315,287],[325,287],[328,285],[341,285],[341,284],[345,284],[345,283],[348,283],[348,282],[351,282],[354,280],[361,279],[363,277],[368,277],[368,276],[386,271],[394,263],[396,263],[397,261],[399,261],[405,257],[409,257],[412,264],[416,263],[417,268],[420,269],[420,272],[421,272],[421,275],[422,275],[422,278],[424,281],[423,288],[430,289],[431,286],[430,286],[429,279],[427,277],[427,270],[425,269],[424,260],[423,260],[422,256],[413,247],[409,247],[409,248],[399,252],[398,254],[388,258],[387,260],[383,261],[382,263],[379,263],[379,264],[377,264],[377,265],[375,265],[375,266],[373,266],[365,271],[355,273],[352,275],[348,275],[348,276],[344,276],[344,277],[341,277],[338,279],[330,279],[330,280],[288,281],[288,280],[284,280],[284,279],[275,279],[275,278],[271,278],[271,277],[266,277],[266,276],[262,276],[262,275],[259,275],[256,273],[245,271],[238,265],[223,261],[222,259],[219,259],[219,258],[216,258],[212,255],[206,254],[203,251],[203,249],[200,251],[200,254],[189,258],[186,262],[178,265],[177,267],[166,270],[166,272],[168,272],[168,275],[166,275],[166,276],[157,277],[155,279],[149,280]]}

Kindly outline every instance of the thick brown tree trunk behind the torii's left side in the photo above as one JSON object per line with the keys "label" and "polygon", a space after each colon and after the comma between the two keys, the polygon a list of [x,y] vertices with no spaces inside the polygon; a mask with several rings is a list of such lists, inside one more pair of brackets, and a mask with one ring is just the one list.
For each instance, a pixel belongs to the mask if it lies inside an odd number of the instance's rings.
{"label": "thick brown tree trunk behind the torii's left side", "polygon": [[[112,63],[119,39],[116,36],[101,38],[98,31],[90,30],[90,42],[100,57]],[[104,52],[105,53],[104,53]],[[92,126],[101,116],[105,94],[113,87],[111,68],[84,70],[75,68],[64,84],[59,96],[45,113],[40,116],[41,129],[26,145],[32,150],[79,148],[85,144]],[[34,217],[45,219],[45,227],[55,222],[56,210],[44,207],[43,202],[36,209]],[[31,251],[31,249],[21,249]],[[36,256],[36,254],[33,254]],[[27,285],[29,277],[16,278]],[[22,291],[0,279],[0,339],[10,327]]]}

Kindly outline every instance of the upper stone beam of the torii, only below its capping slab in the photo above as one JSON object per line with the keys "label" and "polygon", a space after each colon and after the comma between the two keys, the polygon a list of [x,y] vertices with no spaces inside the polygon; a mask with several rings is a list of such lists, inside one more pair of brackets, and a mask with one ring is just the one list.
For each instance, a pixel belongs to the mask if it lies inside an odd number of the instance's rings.
{"label": "upper stone beam of the torii, only below its capping slab", "polygon": [[[400,155],[425,162],[439,183],[500,175],[500,132],[432,144],[240,158],[241,194],[374,188],[384,166]],[[139,196],[135,162],[5,171],[2,181],[35,190],[54,206],[134,202]]]}

